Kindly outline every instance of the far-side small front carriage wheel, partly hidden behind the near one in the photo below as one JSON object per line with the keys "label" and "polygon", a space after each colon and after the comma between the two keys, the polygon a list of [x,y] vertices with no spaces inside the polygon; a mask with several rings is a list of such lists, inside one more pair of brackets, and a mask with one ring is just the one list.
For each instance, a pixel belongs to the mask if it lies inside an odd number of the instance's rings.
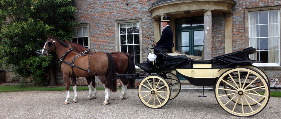
{"label": "far-side small front carriage wheel, partly hidden behind the near one", "polygon": [[[160,76],[162,76],[162,74],[160,74]],[[168,72],[165,76],[163,76],[166,81],[168,82],[169,86],[170,86],[170,91],[171,91],[171,97],[170,100],[174,99],[175,97],[178,96],[178,94],[181,91],[181,82],[178,79],[178,77],[173,74],[172,72]],[[161,91],[167,91],[167,89],[162,89]],[[159,93],[160,95],[162,95],[162,93]],[[163,95],[165,95],[165,93],[163,93]],[[162,96],[163,96],[162,95]],[[161,98],[161,97],[160,97]],[[161,98],[162,99],[162,98]],[[163,100],[163,99],[162,99]]]}

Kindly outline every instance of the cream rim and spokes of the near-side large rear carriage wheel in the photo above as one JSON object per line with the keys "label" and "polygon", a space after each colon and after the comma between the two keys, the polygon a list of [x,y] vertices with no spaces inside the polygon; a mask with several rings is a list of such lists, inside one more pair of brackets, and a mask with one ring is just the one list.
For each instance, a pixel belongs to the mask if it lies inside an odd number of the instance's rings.
{"label": "cream rim and spokes of the near-side large rear carriage wheel", "polygon": [[[259,107],[255,107],[254,109],[252,109],[252,107],[251,107],[251,105],[249,106],[249,103],[248,103],[248,100],[247,100],[247,98],[249,99],[249,95],[247,95],[247,91],[248,90],[251,90],[251,89],[247,89],[246,87],[245,87],[245,85],[244,85],[244,87],[243,87],[243,85],[241,84],[241,85],[236,85],[236,83],[233,83],[233,84],[235,84],[234,86],[232,85],[231,87],[233,88],[233,89],[231,89],[233,92],[235,92],[233,95],[235,95],[235,97],[236,96],[238,96],[238,98],[237,98],[237,100],[239,100],[239,101],[242,101],[242,102],[247,102],[247,105],[244,105],[244,103],[242,104],[242,105],[237,105],[237,103],[235,103],[234,104],[234,106],[232,107],[232,106],[228,106],[227,107],[227,104],[229,103],[229,102],[232,102],[231,101],[231,99],[229,100],[229,101],[227,101],[226,103],[223,103],[222,102],[222,97],[225,97],[226,95],[220,95],[219,96],[219,90],[226,90],[226,89],[224,89],[224,88],[219,88],[219,84],[220,84],[220,82],[223,82],[223,79],[224,79],[224,77],[226,76],[226,75],[229,75],[230,73],[232,73],[232,72],[234,72],[234,71],[245,71],[245,72],[249,72],[249,73],[253,73],[256,77],[257,77],[257,79],[260,79],[261,81],[262,81],[262,83],[264,84],[264,85],[262,85],[260,88],[257,88],[257,89],[259,89],[259,90],[264,90],[265,91],[265,94],[264,95],[257,95],[257,96],[265,96],[265,98],[264,98],[264,100],[263,100],[263,102],[262,102],[262,104],[258,104],[258,105],[256,105],[256,106],[259,106]],[[239,77],[239,82],[240,82],[240,80],[241,80],[241,78]],[[254,80],[252,81],[252,82],[254,82]],[[241,87],[240,87],[241,86]],[[249,86],[248,86],[249,87]],[[242,95],[238,95],[238,92],[239,91],[244,91],[245,93],[243,93]],[[232,93],[231,93],[232,94]],[[230,94],[228,94],[228,95],[230,95]],[[215,90],[215,97],[216,97],[216,100],[218,101],[218,103],[219,103],[219,105],[226,111],[226,112],[228,112],[228,113],[230,113],[230,114],[232,114],[232,115],[235,115],[235,116],[241,116],[241,117],[248,117],[248,116],[253,116],[253,115],[256,115],[256,114],[258,114],[259,112],[261,112],[264,108],[265,108],[265,106],[267,105],[267,103],[268,103],[268,100],[269,100],[269,87],[268,87],[268,84],[267,84],[267,81],[265,81],[265,79],[259,74],[259,73],[257,73],[256,71],[253,71],[253,70],[251,70],[251,69],[248,69],[248,68],[233,68],[233,69],[230,69],[230,70],[228,70],[228,71],[226,71],[225,73],[223,73],[222,74],[222,76],[220,76],[220,78],[218,79],[218,81],[216,82],[216,90]],[[235,98],[234,97],[234,98]],[[255,98],[253,98],[254,100],[255,100]],[[244,100],[244,101],[243,101]],[[237,109],[235,110],[235,108],[236,108],[236,106],[238,107],[238,106],[241,106],[242,107],[242,112],[241,111],[237,111]],[[250,112],[248,112],[248,113],[245,113],[244,111],[245,111],[245,107],[246,106],[248,106],[250,109],[252,109]],[[247,108],[248,108],[247,107]],[[248,110],[247,110],[248,111]]]}

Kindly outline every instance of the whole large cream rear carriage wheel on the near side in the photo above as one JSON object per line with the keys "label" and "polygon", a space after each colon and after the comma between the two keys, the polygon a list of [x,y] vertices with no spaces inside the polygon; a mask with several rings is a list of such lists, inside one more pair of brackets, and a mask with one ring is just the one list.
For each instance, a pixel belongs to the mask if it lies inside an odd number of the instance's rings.
{"label": "whole large cream rear carriage wheel on the near side", "polygon": [[[225,86],[227,88],[224,88]],[[225,90],[228,94],[223,93]],[[269,101],[269,93],[266,79],[257,71],[246,67],[225,71],[215,85],[215,96],[219,105],[226,112],[241,117],[261,112]],[[231,99],[228,98],[230,95]],[[238,102],[241,105],[237,105]],[[253,105],[255,103],[256,105]]]}

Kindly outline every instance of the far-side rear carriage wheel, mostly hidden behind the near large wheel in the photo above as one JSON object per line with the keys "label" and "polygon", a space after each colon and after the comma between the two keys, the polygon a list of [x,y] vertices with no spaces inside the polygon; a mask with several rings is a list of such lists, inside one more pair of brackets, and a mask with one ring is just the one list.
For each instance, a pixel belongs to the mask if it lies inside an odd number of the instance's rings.
{"label": "far-side rear carriage wheel, mostly hidden behind the near large wheel", "polygon": [[[265,72],[263,72],[260,68],[258,68],[258,67],[256,67],[256,66],[253,66],[253,65],[245,65],[245,66],[241,66],[241,67],[251,68],[251,69],[254,69],[255,71],[259,72],[264,78],[266,78],[265,80],[266,80],[266,81],[268,82],[268,84],[269,84],[268,76],[267,76],[267,75],[265,74]],[[230,77],[228,77],[228,78],[230,79]],[[231,83],[232,85],[234,85],[234,83],[233,83],[231,80],[229,80],[229,79],[227,79],[228,81],[230,81],[230,82],[228,82],[228,83]],[[238,82],[236,82],[236,84],[239,85]],[[227,88],[227,84],[224,85],[224,88]],[[230,93],[232,93],[232,92],[231,92],[231,91],[228,91],[228,90],[225,90],[225,93],[226,93],[226,94],[230,94]],[[251,92],[251,91],[249,91],[249,93],[256,93],[256,92]],[[265,95],[265,94],[264,94],[264,95]],[[233,98],[233,95],[227,95],[227,97],[228,97],[229,99],[232,99],[232,98]],[[265,99],[264,97],[260,97],[260,99],[258,99],[257,102],[262,102],[264,99]],[[236,102],[236,99],[233,99],[232,101],[235,103],[235,102]],[[237,104],[241,105],[241,101],[238,101]],[[251,106],[256,105],[256,104],[257,104],[256,102],[250,103]],[[245,105],[245,104],[244,104],[244,105]]]}

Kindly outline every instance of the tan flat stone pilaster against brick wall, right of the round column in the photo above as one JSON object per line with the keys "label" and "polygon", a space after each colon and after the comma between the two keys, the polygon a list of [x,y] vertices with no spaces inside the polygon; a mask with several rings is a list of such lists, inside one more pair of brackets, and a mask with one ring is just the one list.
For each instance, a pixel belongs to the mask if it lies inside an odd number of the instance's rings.
{"label": "tan flat stone pilaster against brick wall, right of the round column", "polygon": [[232,52],[232,14],[225,14],[225,54]]}

